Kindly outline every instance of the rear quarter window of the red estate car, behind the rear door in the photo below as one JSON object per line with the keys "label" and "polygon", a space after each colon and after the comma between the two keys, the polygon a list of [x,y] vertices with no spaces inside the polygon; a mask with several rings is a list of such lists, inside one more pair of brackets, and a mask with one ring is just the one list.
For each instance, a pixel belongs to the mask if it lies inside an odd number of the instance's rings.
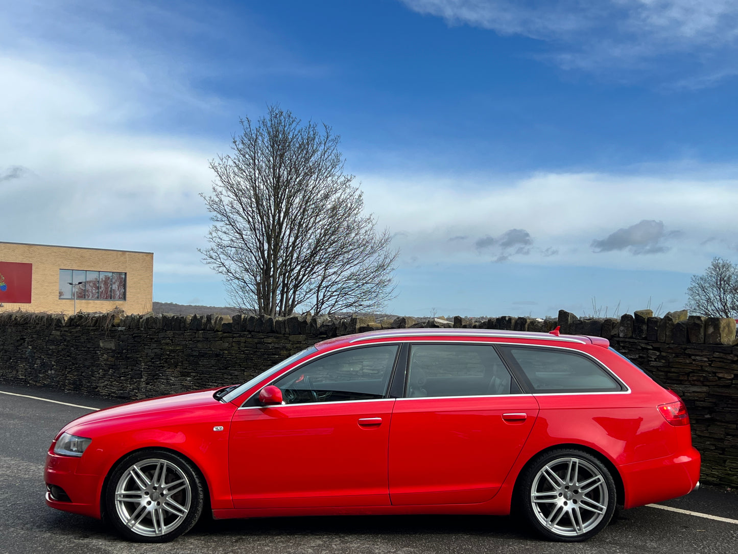
{"label": "rear quarter window of the red estate car, behind the rear door", "polygon": [[623,386],[604,367],[575,352],[528,346],[502,346],[508,363],[534,392],[615,392]]}

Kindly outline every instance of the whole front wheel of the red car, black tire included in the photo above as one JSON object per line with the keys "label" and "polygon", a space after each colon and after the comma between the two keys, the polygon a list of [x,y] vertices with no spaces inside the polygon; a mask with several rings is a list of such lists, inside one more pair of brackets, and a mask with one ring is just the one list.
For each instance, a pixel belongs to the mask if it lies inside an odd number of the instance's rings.
{"label": "whole front wheel of the red car, black tire included", "polygon": [[107,521],[120,536],[136,542],[168,542],[187,533],[204,505],[199,471],[165,450],[125,456],[104,494]]}

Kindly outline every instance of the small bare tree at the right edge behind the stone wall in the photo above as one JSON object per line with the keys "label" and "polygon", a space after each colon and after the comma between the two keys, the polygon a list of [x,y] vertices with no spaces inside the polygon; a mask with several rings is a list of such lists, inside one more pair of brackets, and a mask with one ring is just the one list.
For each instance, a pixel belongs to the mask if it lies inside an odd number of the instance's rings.
{"label": "small bare tree at the right edge behind the stone wall", "polygon": [[738,318],[738,265],[713,258],[704,275],[692,276],[687,309],[717,318]]}

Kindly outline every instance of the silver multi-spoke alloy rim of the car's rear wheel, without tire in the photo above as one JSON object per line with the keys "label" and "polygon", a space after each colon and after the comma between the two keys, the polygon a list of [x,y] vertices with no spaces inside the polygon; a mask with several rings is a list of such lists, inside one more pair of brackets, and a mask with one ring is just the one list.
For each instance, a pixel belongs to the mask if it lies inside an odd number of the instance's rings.
{"label": "silver multi-spoke alloy rim of the car's rear wheel, without tire", "polygon": [[596,527],[607,513],[607,483],[596,466],[575,457],[544,465],[531,485],[531,507],[545,529],[575,537]]}

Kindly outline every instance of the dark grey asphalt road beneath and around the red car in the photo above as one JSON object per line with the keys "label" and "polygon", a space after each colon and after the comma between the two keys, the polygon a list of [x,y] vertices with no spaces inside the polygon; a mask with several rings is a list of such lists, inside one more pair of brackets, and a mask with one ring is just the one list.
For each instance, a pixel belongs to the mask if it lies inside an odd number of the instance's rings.
{"label": "dark grey asphalt road beneath and around the red car", "polygon": [[[103,408],[109,400],[0,385]],[[95,519],[44,504],[44,456],[88,410],[0,394],[0,553],[737,553],[738,524],[639,507],[580,544],[541,541],[508,517],[351,516],[205,521],[168,544],[128,543]],[[265,471],[268,468],[265,466]],[[738,491],[703,487],[664,505],[738,520]]]}

